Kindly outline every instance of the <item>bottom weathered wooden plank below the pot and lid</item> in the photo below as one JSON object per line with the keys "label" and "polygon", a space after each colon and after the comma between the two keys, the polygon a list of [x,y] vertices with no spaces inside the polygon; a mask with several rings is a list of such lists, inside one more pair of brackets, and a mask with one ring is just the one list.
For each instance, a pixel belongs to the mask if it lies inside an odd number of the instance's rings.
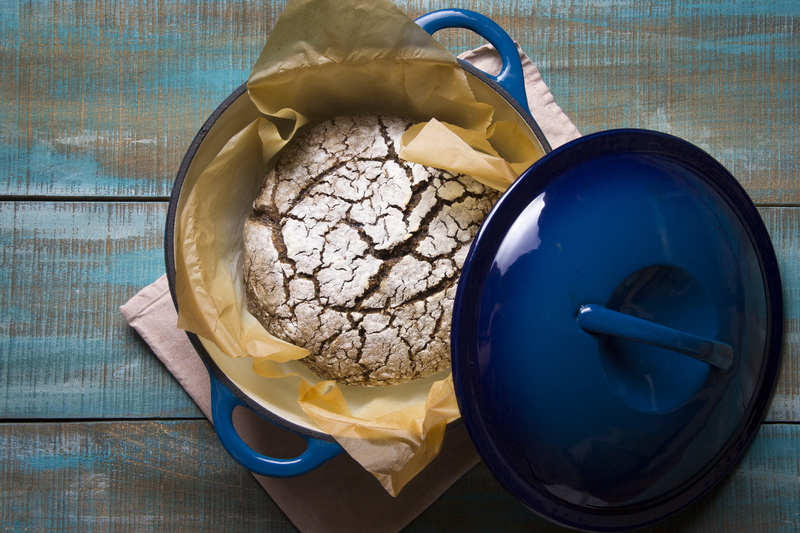
{"label": "bottom weathered wooden plank below the pot and lid", "polygon": [[[763,426],[709,494],[642,531],[798,531],[799,440],[798,425]],[[205,421],[0,424],[0,458],[5,531],[296,531]],[[406,531],[566,530],[481,463]]]}

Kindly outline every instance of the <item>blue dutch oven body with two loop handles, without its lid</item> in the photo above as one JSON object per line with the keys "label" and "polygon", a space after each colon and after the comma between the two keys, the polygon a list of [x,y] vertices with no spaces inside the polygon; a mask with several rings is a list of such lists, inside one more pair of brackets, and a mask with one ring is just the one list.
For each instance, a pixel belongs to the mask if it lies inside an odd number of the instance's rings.
{"label": "blue dutch oven body with two loop handles, without its lid", "polygon": [[[499,120],[513,121],[538,147],[540,155],[550,151],[544,135],[530,116],[522,65],[511,38],[490,19],[467,11],[431,13],[418,20],[429,33],[445,27],[465,27],[482,35],[498,48],[503,67],[497,76],[486,74],[472,65],[461,62],[467,72],[470,87],[479,101],[495,108]],[[183,211],[186,198],[203,169],[213,160],[227,141],[259,116],[251,102],[246,84],[233,92],[208,118],[192,141],[181,166],[170,197],[167,212],[165,256],[167,277],[173,302],[175,300],[175,224]],[[265,379],[256,376],[245,359],[231,359],[212,342],[187,333],[195,350],[203,359],[211,379],[212,418],[215,430],[225,449],[248,470],[271,477],[290,477],[305,474],[342,452],[335,440],[309,419],[297,404],[297,382],[292,379]],[[291,364],[291,363],[290,363]],[[292,370],[317,381],[300,363]],[[392,387],[341,387],[348,404],[366,403],[377,396],[390,396],[395,402],[423,401],[430,384],[442,375]],[[296,458],[268,457],[251,449],[233,426],[233,410],[237,406],[252,409],[270,422],[288,429],[308,442],[306,451]],[[459,425],[460,421],[451,423]]]}

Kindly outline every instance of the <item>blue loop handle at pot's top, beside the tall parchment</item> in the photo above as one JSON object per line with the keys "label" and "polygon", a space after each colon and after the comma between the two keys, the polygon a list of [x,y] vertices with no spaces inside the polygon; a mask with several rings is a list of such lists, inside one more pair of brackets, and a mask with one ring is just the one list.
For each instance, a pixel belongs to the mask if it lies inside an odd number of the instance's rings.
{"label": "blue loop handle at pot's top, beside the tall parchment", "polygon": [[531,114],[517,45],[496,22],[480,13],[464,9],[433,11],[422,15],[414,22],[431,35],[444,28],[465,28],[492,43],[500,54],[500,59],[503,60],[503,68],[497,76],[486,75],[496,81],[529,115]]}

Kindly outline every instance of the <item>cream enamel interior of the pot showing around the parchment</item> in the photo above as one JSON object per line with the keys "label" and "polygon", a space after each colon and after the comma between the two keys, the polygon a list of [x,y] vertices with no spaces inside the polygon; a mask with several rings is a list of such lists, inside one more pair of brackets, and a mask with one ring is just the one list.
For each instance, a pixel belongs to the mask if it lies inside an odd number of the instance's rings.
{"label": "cream enamel interior of the pot showing around the parchment", "polygon": [[[512,120],[522,126],[522,130],[535,142],[542,154],[550,151],[547,141],[533,119],[522,111],[501,87],[471,65],[464,62],[461,64],[468,72],[467,78],[470,86],[479,101],[493,105],[499,119]],[[258,116],[258,110],[250,100],[245,85],[242,85],[214,111],[184,157],[170,198],[165,239],[167,277],[173,301],[175,298],[175,224],[185,207],[189,192],[200,173],[214,159],[225,143]],[[177,302],[175,303],[177,306]],[[263,378],[253,372],[252,362],[249,358],[232,359],[223,354],[213,342],[201,339],[191,333],[188,336],[209,371],[256,412],[297,433],[330,439],[298,405],[298,378]],[[284,365],[287,370],[302,375],[311,383],[319,381],[319,378],[300,362],[294,361],[284,363]],[[373,401],[388,400],[400,405],[411,405],[424,401],[431,383],[443,379],[445,374],[439,373],[411,383],[391,387],[341,386],[341,389],[348,405],[357,415],[359,410]]]}

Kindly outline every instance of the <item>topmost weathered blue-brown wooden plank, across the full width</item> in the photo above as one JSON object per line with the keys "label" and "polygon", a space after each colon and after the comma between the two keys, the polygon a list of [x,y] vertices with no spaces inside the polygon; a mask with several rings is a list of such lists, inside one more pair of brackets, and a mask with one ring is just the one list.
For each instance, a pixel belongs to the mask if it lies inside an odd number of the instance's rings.
{"label": "topmost weathered blue-brown wooden plank, across the full width", "polygon": [[[578,128],[676,134],[759,203],[800,203],[800,5],[395,0],[501,24]],[[20,2],[0,19],[0,194],[166,195],[191,138],[240,83],[282,0]],[[458,53],[483,40],[437,38]]]}

